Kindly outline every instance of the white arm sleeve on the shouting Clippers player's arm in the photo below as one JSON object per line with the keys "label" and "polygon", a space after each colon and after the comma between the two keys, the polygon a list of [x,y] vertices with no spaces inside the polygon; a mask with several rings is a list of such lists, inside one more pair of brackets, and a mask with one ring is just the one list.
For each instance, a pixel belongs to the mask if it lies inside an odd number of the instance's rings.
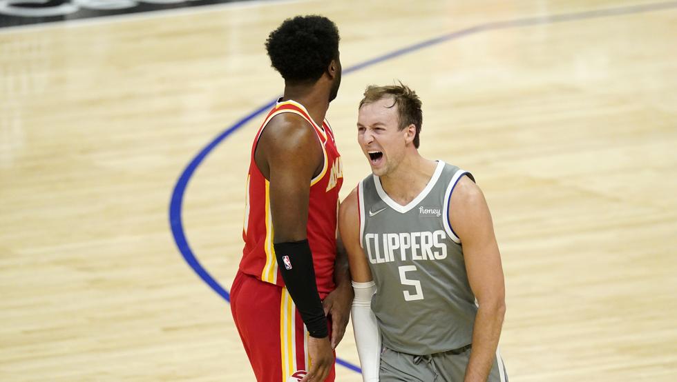
{"label": "white arm sleeve on the shouting Clippers player's arm", "polygon": [[377,382],[381,368],[381,333],[372,311],[372,295],[376,293],[376,283],[353,281],[352,288],[355,291],[352,301],[352,328],[362,365],[362,379],[365,382]]}

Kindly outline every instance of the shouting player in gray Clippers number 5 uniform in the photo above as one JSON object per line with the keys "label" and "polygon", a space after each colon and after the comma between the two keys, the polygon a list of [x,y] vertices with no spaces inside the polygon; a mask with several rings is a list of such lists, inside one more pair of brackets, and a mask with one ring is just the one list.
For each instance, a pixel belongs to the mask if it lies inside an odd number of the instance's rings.
{"label": "shouting player in gray Clippers number 5 uniform", "polygon": [[[358,141],[372,174],[341,203],[365,381],[507,381],[501,257],[473,176],[418,152],[421,101],[370,86]],[[462,244],[462,246],[461,246]]]}

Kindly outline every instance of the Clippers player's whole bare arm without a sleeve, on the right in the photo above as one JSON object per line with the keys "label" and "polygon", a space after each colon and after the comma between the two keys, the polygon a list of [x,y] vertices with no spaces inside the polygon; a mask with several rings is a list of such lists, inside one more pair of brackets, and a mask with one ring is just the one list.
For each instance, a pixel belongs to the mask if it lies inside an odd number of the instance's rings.
{"label": "Clippers player's whole bare arm without a sleeve, on the right", "polygon": [[456,185],[451,206],[449,219],[463,244],[468,281],[479,304],[465,381],[486,381],[506,310],[501,254],[484,194],[468,177]]}

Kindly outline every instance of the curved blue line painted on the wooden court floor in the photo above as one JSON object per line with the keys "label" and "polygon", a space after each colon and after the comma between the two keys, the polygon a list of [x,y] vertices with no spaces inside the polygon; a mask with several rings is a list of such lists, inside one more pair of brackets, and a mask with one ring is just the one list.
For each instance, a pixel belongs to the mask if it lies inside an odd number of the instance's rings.
{"label": "curved blue line painted on the wooden court floor", "polygon": [[[525,26],[536,26],[551,23],[560,23],[564,21],[579,21],[584,19],[596,19],[600,17],[622,16],[624,14],[652,12],[657,10],[667,10],[671,8],[677,8],[677,1],[648,3],[639,6],[625,6],[618,8],[607,8],[602,10],[591,10],[586,12],[553,14],[539,17],[528,17],[524,19],[484,23],[479,26],[457,30],[456,32],[451,32],[448,34],[443,34],[439,37],[421,41],[419,43],[415,43],[413,45],[406,46],[398,50],[394,50],[393,52],[383,54],[379,57],[375,57],[374,59],[358,63],[354,66],[351,66],[350,68],[346,68],[345,70],[343,70],[343,74],[350,74],[352,72],[356,72],[357,70],[373,66],[376,63],[381,63],[389,59],[394,59],[395,57],[399,57],[404,54],[409,54],[417,50],[427,48],[428,46],[434,46],[438,43],[459,39],[461,37],[469,36],[471,34],[476,34],[479,32],[486,32],[489,30],[502,30],[508,28],[520,28]],[[188,182],[193,176],[193,172],[195,172],[196,168],[198,168],[198,165],[202,163],[202,161],[204,160],[204,158],[207,157],[209,152],[211,152],[211,150],[213,150],[213,148],[215,148],[216,145],[221,143],[221,141],[226,139],[230,134],[232,134],[239,128],[242,128],[242,126],[244,126],[247,122],[251,121],[251,119],[254,119],[254,117],[258,117],[259,114],[262,114],[263,112],[266,112],[267,110],[272,108],[277,99],[278,97],[275,97],[274,99],[271,99],[271,101],[265,103],[265,105],[262,105],[260,106],[260,108],[257,108],[250,114],[247,114],[246,117],[243,117],[242,119],[240,119],[240,121],[237,121],[235,124],[231,125],[231,127],[227,128],[224,132],[222,132],[215,139],[213,139],[211,143],[209,143],[202,150],[200,150],[198,155],[196,155],[196,157],[193,158],[193,160],[183,170],[171,194],[171,202],[169,203],[169,225],[171,227],[171,232],[174,236],[174,241],[176,242],[178,250],[183,255],[185,261],[198,274],[198,276],[200,276],[200,278],[205,283],[207,283],[207,285],[209,285],[211,289],[213,289],[216,293],[218,293],[220,296],[223,297],[223,299],[225,299],[228,302],[230,302],[230,294],[228,293],[228,291],[225,290],[225,288],[223,288],[218,283],[218,281],[213,279],[213,277],[211,277],[211,274],[209,274],[209,272],[207,272],[207,270],[205,270],[204,267],[202,267],[200,261],[198,261],[198,259],[195,257],[195,254],[193,254],[193,250],[191,250],[191,247],[188,244],[188,240],[186,239],[186,235],[184,234],[183,223],[181,218],[183,195],[186,191]],[[343,361],[342,359],[338,359],[338,357],[336,358],[336,363],[350,370],[361,372],[358,366],[352,365],[351,363]]]}

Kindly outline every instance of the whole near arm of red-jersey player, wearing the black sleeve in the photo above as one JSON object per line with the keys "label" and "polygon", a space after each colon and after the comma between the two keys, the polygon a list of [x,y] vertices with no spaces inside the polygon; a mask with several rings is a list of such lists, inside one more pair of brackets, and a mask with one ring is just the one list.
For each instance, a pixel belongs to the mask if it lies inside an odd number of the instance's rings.
{"label": "whole near arm of red-jersey player, wearing the black sleeve", "polygon": [[[278,268],[310,334],[311,365],[305,381],[325,379],[334,363],[307,242],[310,181],[323,165],[321,150],[307,121],[284,113],[274,117],[263,130],[254,154],[256,165],[269,180]],[[288,269],[281,261],[285,256],[291,263]]]}

